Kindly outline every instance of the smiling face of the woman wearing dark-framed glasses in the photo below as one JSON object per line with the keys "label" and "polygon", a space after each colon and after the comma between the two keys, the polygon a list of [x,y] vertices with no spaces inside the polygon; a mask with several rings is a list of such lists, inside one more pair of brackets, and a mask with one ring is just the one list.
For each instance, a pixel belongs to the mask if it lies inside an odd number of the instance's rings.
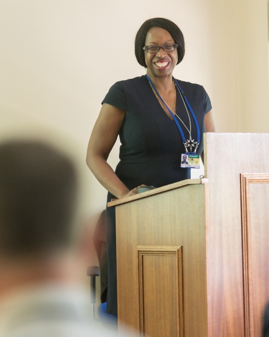
{"label": "smiling face of the woman wearing dark-framed glasses", "polygon": [[[145,45],[164,45],[175,43],[168,31],[163,28],[151,28],[146,36]],[[172,76],[174,67],[177,64],[177,50],[165,52],[162,48],[151,54],[146,51],[145,62],[147,65],[147,74],[149,77],[169,77]]]}

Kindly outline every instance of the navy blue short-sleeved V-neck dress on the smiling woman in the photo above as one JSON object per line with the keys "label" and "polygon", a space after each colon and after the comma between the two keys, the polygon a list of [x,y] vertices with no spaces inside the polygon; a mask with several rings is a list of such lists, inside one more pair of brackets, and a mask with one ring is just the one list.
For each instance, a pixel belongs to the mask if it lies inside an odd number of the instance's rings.
{"label": "navy blue short-sleeved V-neck dress on the smiling woman", "polygon": [[[200,128],[200,145],[203,150],[204,116],[211,110],[210,99],[205,89],[198,84],[177,80],[189,101]],[[145,76],[115,83],[102,103],[111,104],[126,112],[119,137],[121,141],[119,163],[115,173],[132,189],[141,184],[155,187],[165,186],[190,179],[190,168],[181,168],[181,154],[185,152],[180,132],[155,97]],[[176,113],[187,128],[190,122],[181,96],[177,91]],[[197,141],[197,129],[191,112],[192,139]],[[179,122],[186,139],[189,132]],[[108,193],[107,201],[115,198]],[[117,315],[116,276],[116,228],[115,208],[109,207],[107,214],[108,288],[107,312]]]}

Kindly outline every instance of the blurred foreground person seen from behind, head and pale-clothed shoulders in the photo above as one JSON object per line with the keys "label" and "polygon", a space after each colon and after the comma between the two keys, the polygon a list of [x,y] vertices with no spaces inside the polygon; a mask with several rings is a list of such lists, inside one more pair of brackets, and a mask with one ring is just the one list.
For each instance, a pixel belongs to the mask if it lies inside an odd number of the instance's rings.
{"label": "blurred foreground person seen from behind, head and pale-clothed shoulders", "polygon": [[0,143],[3,337],[111,335],[91,322],[82,282],[89,250],[86,231],[79,235],[78,181],[71,157],[48,143]]}

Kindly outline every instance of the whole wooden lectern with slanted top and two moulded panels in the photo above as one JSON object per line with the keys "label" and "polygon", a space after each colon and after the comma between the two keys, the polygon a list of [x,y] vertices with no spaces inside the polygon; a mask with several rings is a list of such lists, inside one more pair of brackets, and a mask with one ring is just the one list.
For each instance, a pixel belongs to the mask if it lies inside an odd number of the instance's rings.
{"label": "whole wooden lectern with slanted top and two moulded panels", "polygon": [[205,176],[116,207],[119,330],[257,337],[269,300],[269,134],[207,133]]}

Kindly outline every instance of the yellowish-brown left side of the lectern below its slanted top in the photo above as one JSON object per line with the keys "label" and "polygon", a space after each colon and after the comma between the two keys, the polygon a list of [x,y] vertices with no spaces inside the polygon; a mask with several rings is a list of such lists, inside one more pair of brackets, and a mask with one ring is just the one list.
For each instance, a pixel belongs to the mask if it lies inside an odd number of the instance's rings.
{"label": "yellowish-brown left side of the lectern below its slanted top", "polygon": [[[141,333],[146,331],[154,337],[166,335],[168,326],[171,336],[180,335],[180,329],[185,336],[207,333],[205,185],[199,183],[178,188],[116,208],[119,320],[137,330],[143,327]],[[166,252],[181,247],[182,263],[176,262],[175,253],[144,255],[142,277],[140,247],[154,247],[155,251],[166,247]],[[142,278],[147,289],[143,294],[143,306],[147,311],[141,316]],[[178,299],[182,296],[183,309],[179,309]],[[149,313],[152,305],[154,311]],[[183,310],[182,319],[177,310]],[[156,325],[159,334],[156,334]]]}

